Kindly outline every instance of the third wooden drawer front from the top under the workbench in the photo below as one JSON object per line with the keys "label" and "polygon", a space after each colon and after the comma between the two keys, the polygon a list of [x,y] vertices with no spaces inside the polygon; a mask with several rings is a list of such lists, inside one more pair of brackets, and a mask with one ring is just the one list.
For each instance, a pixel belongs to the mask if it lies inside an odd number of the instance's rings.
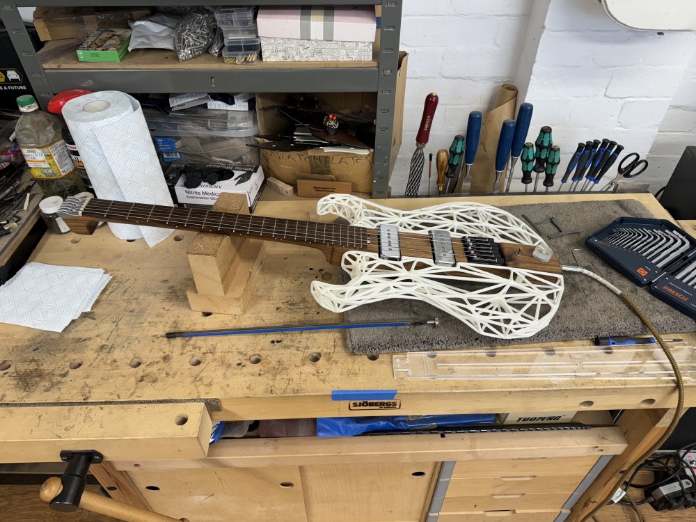
{"label": "third wooden drawer front from the top under the workbench", "polygon": [[560,510],[569,493],[512,494],[496,493],[494,495],[474,497],[452,497],[445,495],[441,513],[466,513],[491,510],[529,511],[530,509]]}

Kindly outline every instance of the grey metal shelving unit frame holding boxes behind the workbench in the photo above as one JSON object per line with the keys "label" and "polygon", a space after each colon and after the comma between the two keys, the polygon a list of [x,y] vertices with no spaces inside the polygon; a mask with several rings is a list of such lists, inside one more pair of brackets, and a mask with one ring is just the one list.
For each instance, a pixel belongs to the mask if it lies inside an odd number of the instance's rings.
{"label": "grey metal shelving unit frame holding boxes behind the workbench", "polygon": [[128,62],[114,68],[44,69],[26,33],[18,7],[40,3],[45,7],[174,6],[191,4],[248,5],[249,1],[197,0],[8,0],[0,5],[0,17],[13,42],[31,88],[42,106],[54,93],[69,88],[122,90],[129,93],[177,92],[376,92],[377,121],[374,141],[373,198],[386,198],[390,176],[391,143],[399,70],[399,42],[403,0],[254,0],[256,5],[380,5],[379,59],[368,67],[310,67],[288,63],[286,67],[230,66],[211,63],[191,69],[173,63],[165,68],[129,68]]}

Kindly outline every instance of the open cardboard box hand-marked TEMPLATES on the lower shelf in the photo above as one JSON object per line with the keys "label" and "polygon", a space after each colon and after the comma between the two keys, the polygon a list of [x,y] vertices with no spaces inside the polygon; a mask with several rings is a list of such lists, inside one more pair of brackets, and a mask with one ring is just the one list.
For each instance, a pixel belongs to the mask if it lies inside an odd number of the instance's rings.
{"label": "open cardboard box hand-marked TEMPLATES on the lower shelf", "polygon": [[[401,147],[409,55],[401,52],[399,58],[390,171],[394,168]],[[365,104],[377,106],[377,93],[321,93],[317,94],[317,97],[322,105],[336,110],[362,107]],[[276,111],[263,111],[262,107],[286,104],[288,100],[287,94],[257,94],[256,111],[260,134],[279,134],[287,128],[289,124],[287,118]],[[324,152],[322,149],[310,149],[303,152],[261,150],[261,166],[264,172],[289,184],[296,184],[297,180],[347,181],[353,184],[354,192],[372,193],[373,164],[373,150],[369,150],[366,155],[351,152]]]}

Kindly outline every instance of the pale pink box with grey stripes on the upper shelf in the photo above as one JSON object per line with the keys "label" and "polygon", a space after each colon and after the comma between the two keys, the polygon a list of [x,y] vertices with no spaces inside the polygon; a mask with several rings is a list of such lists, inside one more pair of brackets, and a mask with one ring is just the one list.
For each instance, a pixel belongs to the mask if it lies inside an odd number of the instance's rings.
{"label": "pale pink box with grey stripes on the upper shelf", "polygon": [[374,42],[377,30],[374,6],[261,7],[257,24],[259,36],[337,42]]}

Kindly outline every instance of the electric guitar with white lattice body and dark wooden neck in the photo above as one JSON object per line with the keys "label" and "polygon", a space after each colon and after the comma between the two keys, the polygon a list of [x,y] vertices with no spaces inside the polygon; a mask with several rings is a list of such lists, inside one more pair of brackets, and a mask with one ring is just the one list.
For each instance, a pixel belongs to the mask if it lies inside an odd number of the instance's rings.
{"label": "electric guitar with white lattice body and dark wooden neck", "polygon": [[58,209],[77,234],[92,234],[99,221],[111,221],[317,248],[351,277],[345,285],[312,282],[317,303],[333,312],[416,299],[482,335],[516,339],[543,329],[559,306],[563,276],[555,254],[525,223],[496,207],[462,201],[405,211],[333,194],[319,200],[317,212],[349,224],[90,196],[71,196]]}

